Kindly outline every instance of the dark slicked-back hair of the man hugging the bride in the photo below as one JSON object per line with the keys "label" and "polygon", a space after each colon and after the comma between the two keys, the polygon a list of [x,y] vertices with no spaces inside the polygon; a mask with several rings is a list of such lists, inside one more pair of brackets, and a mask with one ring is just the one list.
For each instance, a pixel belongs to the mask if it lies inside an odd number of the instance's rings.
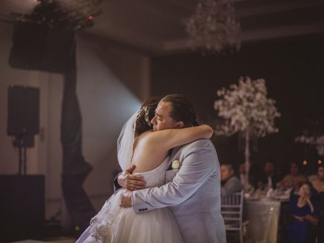
{"label": "dark slicked-back hair of the man hugging the bride", "polygon": [[167,95],[161,99],[171,104],[170,116],[177,123],[182,121],[184,128],[198,126],[196,111],[190,100],[183,95]]}

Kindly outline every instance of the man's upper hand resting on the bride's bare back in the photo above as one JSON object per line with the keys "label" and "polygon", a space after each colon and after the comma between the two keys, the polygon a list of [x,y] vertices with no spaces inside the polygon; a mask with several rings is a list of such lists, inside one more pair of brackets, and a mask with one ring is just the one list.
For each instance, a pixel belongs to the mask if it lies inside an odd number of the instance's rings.
{"label": "man's upper hand resting on the bride's bare back", "polygon": [[121,187],[132,191],[144,188],[146,183],[143,181],[143,176],[133,175],[134,169],[135,165],[132,165],[118,176],[117,181]]}

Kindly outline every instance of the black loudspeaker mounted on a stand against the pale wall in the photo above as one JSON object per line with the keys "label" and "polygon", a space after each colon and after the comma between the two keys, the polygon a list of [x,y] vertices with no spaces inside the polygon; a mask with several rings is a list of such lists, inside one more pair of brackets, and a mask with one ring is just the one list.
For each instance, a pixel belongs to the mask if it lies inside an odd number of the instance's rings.
{"label": "black loudspeaker mounted on a stand against the pale wall", "polygon": [[8,135],[39,133],[39,89],[10,85],[8,88]]}

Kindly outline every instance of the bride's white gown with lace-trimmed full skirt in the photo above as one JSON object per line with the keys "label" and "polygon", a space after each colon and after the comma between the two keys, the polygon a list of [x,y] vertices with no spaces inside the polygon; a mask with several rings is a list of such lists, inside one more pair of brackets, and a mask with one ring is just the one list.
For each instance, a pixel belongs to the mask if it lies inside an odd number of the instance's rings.
{"label": "bride's white gown with lace-trimmed full skirt", "polygon": [[[146,187],[165,184],[168,158],[152,171],[136,173],[144,177]],[[119,189],[106,201],[76,243],[183,242],[176,220],[168,208],[139,214],[136,214],[133,208],[120,208],[120,195],[124,191],[125,189]]]}

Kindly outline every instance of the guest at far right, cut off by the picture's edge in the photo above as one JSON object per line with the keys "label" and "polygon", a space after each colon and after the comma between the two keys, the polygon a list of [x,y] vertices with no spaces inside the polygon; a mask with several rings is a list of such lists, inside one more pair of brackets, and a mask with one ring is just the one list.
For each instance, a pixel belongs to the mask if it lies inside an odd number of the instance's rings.
{"label": "guest at far right, cut off by the picture's edge", "polygon": [[317,179],[312,181],[314,199],[318,204],[319,222],[317,227],[318,242],[324,242],[324,165],[317,169]]}

